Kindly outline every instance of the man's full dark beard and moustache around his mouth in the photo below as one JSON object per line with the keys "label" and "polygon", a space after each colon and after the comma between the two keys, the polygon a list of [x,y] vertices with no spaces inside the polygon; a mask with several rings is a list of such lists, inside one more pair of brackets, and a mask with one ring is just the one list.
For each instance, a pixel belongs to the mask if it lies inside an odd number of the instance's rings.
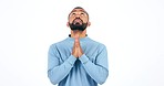
{"label": "man's full dark beard and moustache around his mouth", "polygon": [[[79,20],[80,22],[76,22],[75,20]],[[80,19],[80,18],[76,18],[73,20],[72,23],[69,23],[70,28],[72,31],[84,31],[88,26],[88,22],[86,23],[83,23],[83,21]]]}

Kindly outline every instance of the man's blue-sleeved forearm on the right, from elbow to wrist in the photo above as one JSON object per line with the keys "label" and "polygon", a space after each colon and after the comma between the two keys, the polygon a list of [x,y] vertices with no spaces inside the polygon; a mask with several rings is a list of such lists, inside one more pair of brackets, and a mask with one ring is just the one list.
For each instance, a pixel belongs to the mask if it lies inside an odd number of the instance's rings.
{"label": "man's blue-sleeved forearm on the right, from elbow to wrist", "polygon": [[85,54],[80,57],[86,73],[99,84],[103,84],[109,76],[109,71],[102,65],[92,63]]}

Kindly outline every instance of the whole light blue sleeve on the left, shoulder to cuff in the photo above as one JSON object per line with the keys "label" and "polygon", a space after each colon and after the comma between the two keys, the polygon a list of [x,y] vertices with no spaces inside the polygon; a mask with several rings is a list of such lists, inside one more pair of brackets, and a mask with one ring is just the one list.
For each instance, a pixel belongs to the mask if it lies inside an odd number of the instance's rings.
{"label": "whole light blue sleeve on the left, shoulder to cuff", "polygon": [[70,55],[62,64],[55,45],[51,45],[48,53],[48,77],[52,84],[60,83],[71,71],[76,58]]}

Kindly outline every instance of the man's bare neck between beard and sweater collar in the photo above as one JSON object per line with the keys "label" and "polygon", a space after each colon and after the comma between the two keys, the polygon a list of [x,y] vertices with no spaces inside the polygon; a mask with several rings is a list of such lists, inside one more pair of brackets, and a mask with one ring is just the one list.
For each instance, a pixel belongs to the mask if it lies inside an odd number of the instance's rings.
{"label": "man's bare neck between beard and sweater collar", "polygon": [[85,37],[86,36],[86,30],[84,31],[72,31],[71,30],[71,37]]}

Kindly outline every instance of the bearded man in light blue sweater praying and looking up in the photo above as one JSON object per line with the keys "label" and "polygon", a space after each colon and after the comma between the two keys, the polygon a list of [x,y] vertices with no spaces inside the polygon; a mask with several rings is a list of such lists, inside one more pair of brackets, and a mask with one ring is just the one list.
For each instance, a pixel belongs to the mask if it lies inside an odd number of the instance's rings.
{"label": "bearded man in light blue sweater praying and looking up", "polygon": [[109,76],[107,52],[104,44],[86,35],[88,12],[74,8],[68,17],[71,34],[49,49],[48,77],[59,86],[98,86]]}

